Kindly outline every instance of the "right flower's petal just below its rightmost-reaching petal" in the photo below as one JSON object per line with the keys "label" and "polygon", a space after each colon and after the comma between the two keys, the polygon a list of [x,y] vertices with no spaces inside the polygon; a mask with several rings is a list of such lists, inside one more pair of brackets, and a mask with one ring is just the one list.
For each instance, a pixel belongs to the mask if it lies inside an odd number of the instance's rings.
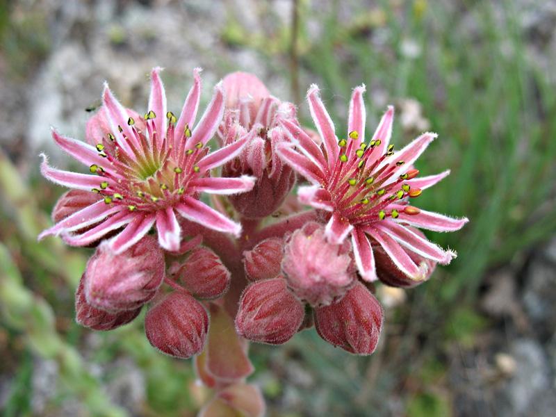
{"label": "right flower's petal just below its rightmost-reaching petal", "polygon": [[377,228],[412,252],[442,263],[443,265],[448,265],[448,263],[456,257],[454,252],[443,250],[430,240],[419,236],[414,231],[391,220],[380,222],[377,224]]}

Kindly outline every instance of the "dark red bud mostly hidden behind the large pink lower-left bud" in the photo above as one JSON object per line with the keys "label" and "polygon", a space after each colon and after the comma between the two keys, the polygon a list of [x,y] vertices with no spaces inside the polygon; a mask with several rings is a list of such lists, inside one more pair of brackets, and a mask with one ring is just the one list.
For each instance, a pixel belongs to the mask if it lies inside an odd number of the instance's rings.
{"label": "dark red bud mostly hidden behind the large pink lower-left bud", "polygon": [[135,310],[118,311],[117,313],[95,309],[85,299],[84,281],[85,274],[81,277],[75,293],[75,321],[80,325],[94,330],[112,330],[126,325],[139,315],[141,307]]}

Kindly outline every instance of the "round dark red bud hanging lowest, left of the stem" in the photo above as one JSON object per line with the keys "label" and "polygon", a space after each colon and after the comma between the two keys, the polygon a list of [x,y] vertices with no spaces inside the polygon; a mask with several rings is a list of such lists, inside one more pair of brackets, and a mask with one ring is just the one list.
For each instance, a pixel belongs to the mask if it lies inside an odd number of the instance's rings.
{"label": "round dark red bud hanging lowest, left of the stem", "polygon": [[145,334],[151,345],[165,354],[187,359],[203,350],[208,313],[186,293],[164,295],[145,316]]}

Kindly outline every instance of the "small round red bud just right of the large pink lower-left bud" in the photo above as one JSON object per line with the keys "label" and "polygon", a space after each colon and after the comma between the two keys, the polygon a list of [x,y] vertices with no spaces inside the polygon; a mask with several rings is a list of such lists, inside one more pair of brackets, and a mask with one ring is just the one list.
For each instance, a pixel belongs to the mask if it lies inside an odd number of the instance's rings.
{"label": "small round red bud just right of the large pink lower-left bud", "polygon": [[177,272],[177,278],[195,297],[213,299],[228,289],[231,274],[217,254],[206,247],[190,252]]}

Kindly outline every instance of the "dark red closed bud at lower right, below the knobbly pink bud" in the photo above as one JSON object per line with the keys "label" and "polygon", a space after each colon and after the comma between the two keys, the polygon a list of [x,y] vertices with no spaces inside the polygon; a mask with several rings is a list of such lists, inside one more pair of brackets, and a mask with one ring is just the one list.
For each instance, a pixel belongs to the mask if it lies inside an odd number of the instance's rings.
{"label": "dark red closed bud at lower right, below the knobbly pink bud", "polygon": [[336,304],[315,309],[320,337],[354,354],[375,351],[383,319],[382,306],[360,282]]}

